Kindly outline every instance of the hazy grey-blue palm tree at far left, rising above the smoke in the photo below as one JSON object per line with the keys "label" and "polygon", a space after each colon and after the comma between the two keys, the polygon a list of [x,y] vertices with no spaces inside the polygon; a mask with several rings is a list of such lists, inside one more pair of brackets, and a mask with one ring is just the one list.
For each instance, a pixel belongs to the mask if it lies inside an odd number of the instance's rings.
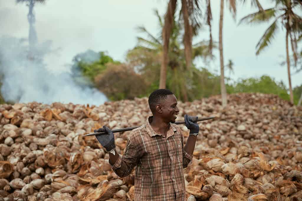
{"label": "hazy grey-blue palm tree at far left, rising above the smoke", "polygon": [[28,19],[28,23],[29,23],[29,34],[28,34],[28,42],[29,42],[29,52],[30,52],[30,57],[32,57],[33,52],[34,52],[34,48],[35,48],[35,44],[37,42],[37,33],[36,30],[34,28],[34,24],[35,24],[35,15],[33,13],[34,10],[34,5],[36,2],[38,3],[44,3],[45,0],[16,0],[17,3],[23,3],[26,2],[27,6],[29,8],[28,14],[27,14],[27,19]]}

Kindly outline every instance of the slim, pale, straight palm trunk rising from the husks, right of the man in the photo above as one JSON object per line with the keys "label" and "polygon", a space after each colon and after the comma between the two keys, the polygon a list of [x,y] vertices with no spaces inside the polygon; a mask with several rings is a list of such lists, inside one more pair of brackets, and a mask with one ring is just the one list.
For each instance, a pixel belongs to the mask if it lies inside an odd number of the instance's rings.
{"label": "slim, pale, straight palm trunk rising from the husks, right of the man", "polygon": [[222,106],[226,106],[226,86],[224,83],[224,64],[223,64],[223,47],[222,47],[222,26],[223,26],[223,2],[220,1],[220,20],[219,20],[219,53],[220,53],[220,91]]}

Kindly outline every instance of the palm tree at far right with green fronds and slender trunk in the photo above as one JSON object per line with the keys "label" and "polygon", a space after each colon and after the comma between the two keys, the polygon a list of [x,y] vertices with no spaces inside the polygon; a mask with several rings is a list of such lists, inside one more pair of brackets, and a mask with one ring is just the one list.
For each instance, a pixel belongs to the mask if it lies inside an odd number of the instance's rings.
{"label": "palm tree at far right with green fronds and slender trunk", "polygon": [[290,59],[288,50],[288,38],[291,40],[291,49],[294,55],[294,62],[297,61],[297,39],[298,34],[302,32],[302,18],[294,12],[294,9],[302,9],[302,4],[294,0],[275,0],[275,7],[260,10],[243,17],[239,24],[245,22],[251,23],[262,23],[273,19],[273,23],[268,27],[261,39],[256,45],[256,55],[259,55],[265,47],[267,47],[271,40],[274,38],[279,26],[281,25],[285,33],[285,44],[286,44],[286,61],[288,70],[288,82],[290,90],[290,100],[294,103],[294,95],[291,87],[291,71],[290,71]]}

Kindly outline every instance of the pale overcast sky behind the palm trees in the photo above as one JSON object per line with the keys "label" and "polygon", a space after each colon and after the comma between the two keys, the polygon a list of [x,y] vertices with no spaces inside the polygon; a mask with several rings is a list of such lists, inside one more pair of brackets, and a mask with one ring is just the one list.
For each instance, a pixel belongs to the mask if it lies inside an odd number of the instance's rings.
{"label": "pale overcast sky behind the palm trees", "polygon": [[[60,48],[59,55],[50,55],[46,62],[48,68],[66,69],[72,57],[87,49],[108,51],[115,60],[124,61],[128,49],[137,44],[135,27],[144,25],[153,34],[160,32],[158,20],[153,10],[165,13],[166,0],[46,0],[43,5],[36,5],[36,30],[39,42],[53,41],[53,48]],[[267,0],[260,1],[264,8],[273,6]],[[264,3],[266,2],[266,4]],[[212,0],[213,39],[218,41],[220,1]],[[227,5],[225,6],[227,8]],[[223,47],[225,64],[229,59],[234,62],[233,79],[259,77],[263,74],[283,80],[288,86],[287,68],[279,63],[285,60],[285,31],[279,29],[271,46],[261,55],[255,55],[255,45],[269,26],[240,25],[239,19],[255,11],[250,5],[238,5],[236,22],[225,9],[223,24]],[[28,36],[28,7],[16,4],[14,0],[0,0],[1,35],[14,37]],[[201,31],[195,41],[208,39],[207,29]],[[300,43],[300,46],[302,44]],[[220,71],[219,52],[215,51],[216,61],[207,68]],[[201,61],[195,62],[202,66]],[[293,72],[293,71],[292,71]],[[226,72],[229,75],[229,72]],[[292,86],[302,84],[302,72],[292,75]]]}

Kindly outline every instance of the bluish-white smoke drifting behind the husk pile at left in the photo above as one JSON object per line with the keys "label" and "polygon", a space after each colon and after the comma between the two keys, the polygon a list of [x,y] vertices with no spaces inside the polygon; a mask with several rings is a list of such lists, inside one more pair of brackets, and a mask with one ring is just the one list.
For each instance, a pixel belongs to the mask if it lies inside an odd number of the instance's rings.
{"label": "bluish-white smoke drifting behind the husk pile at left", "polygon": [[50,45],[49,41],[37,44],[35,51],[30,53],[26,39],[0,38],[1,93],[5,101],[90,105],[108,101],[97,89],[75,83],[70,73],[47,70],[43,58],[51,54]]}

